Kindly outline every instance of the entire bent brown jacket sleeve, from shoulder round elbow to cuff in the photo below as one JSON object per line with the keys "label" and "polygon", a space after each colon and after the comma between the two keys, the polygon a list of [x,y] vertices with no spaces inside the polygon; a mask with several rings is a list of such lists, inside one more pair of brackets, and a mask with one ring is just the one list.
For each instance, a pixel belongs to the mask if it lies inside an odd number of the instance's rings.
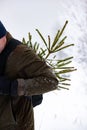
{"label": "entire bent brown jacket sleeve, from shoulder round elbow to cuff", "polygon": [[58,85],[52,69],[26,45],[17,46],[9,55],[5,74],[10,79],[19,78],[19,83],[20,79],[24,79],[24,94],[29,96],[55,90]]}

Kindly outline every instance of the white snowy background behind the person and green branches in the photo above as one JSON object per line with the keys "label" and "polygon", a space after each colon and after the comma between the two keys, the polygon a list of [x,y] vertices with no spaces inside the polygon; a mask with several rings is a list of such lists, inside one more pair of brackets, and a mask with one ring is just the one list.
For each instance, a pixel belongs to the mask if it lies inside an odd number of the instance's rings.
{"label": "white snowy background behind the person and green branches", "polygon": [[0,0],[0,20],[17,39],[31,32],[40,43],[36,28],[53,37],[69,21],[64,34],[75,46],[63,54],[74,55],[77,71],[69,91],[44,94],[34,109],[35,130],[87,130],[87,0]]}

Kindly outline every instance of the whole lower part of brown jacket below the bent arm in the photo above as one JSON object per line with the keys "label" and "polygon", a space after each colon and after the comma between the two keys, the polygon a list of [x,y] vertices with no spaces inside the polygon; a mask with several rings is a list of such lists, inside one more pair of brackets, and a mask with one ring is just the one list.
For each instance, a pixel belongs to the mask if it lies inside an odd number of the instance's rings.
{"label": "whole lower part of brown jacket below the bent arm", "polygon": [[0,130],[34,130],[31,100],[0,96]]}

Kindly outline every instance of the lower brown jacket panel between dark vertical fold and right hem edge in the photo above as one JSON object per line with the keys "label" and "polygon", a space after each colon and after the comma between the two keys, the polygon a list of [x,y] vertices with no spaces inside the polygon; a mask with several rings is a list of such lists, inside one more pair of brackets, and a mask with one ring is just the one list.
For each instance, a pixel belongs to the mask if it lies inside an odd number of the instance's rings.
{"label": "lower brown jacket panel between dark vertical fold and right hem edge", "polygon": [[16,130],[34,130],[34,113],[31,99],[13,97],[12,106],[17,123]]}

